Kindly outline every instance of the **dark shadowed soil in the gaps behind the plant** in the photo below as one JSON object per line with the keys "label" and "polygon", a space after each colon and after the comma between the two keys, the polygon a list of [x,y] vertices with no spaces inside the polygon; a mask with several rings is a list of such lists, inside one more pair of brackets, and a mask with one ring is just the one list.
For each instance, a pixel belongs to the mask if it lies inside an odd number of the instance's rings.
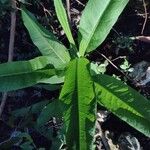
{"label": "dark shadowed soil in the gaps behind the plant", "polygon": [[[79,23],[78,18],[80,18],[82,10],[84,9],[87,1],[79,0],[79,2],[81,2],[81,4],[78,3],[78,1],[71,0],[71,10],[73,10],[71,11],[71,17],[74,37],[77,37],[77,25]],[[54,7],[52,5],[53,2],[48,0],[36,0],[35,2],[30,1],[30,3],[32,5],[27,5],[27,8],[36,15],[39,22],[44,25],[48,30],[51,30],[54,34],[56,34],[62,41],[62,43],[68,45],[67,39],[62,32],[62,28],[60,27],[56,19]],[[144,35],[150,36],[150,2],[147,1],[146,3],[148,19],[144,29]],[[43,6],[47,10],[49,10],[51,16],[45,16]],[[7,61],[10,30],[10,10],[3,10],[3,12],[4,14],[0,16],[1,63]],[[129,37],[141,35],[144,20],[145,14],[142,1],[131,0],[126,9],[123,11],[122,15],[119,17],[115,26],[111,30],[107,39],[100,47],[97,48],[95,52],[92,52],[91,55],[88,56],[89,59],[91,61],[104,62],[105,59],[99,54],[102,53],[111,60],[116,59],[120,56],[126,56],[131,66],[143,60],[150,62],[149,43],[141,41],[132,41],[130,43],[130,41],[125,41],[125,39],[129,39]],[[121,39],[121,41],[118,41],[117,39]],[[27,30],[23,26],[19,11],[17,12],[17,27],[14,50],[14,61],[28,60],[40,55],[38,49],[32,43]],[[121,65],[123,61],[124,59],[117,59],[116,61],[113,61],[113,63],[117,67],[119,67],[119,65]],[[107,66],[106,73],[110,75],[116,74],[120,76],[120,78],[124,79],[123,74],[111,65]],[[147,98],[149,98],[149,86],[145,86],[144,88],[137,88],[132,81],[127,81],[127,83],[139,92],[141,92],[144,96],[147,96]],[[2,119],[0,120],[0,143],[9,139],[16,127],[18,127],[18,124],[20,123],[20,119],[17,119],[15,120],[15,122],[10,123],[10,116],[13,110],[23,108],[24,106],[30,106],[45,99],[54,99],[57,97],[58,94],[59,89],[55,92],[50,92],[46,89],[38,87],[30,87],[23,90],[11,92],[8,95],[7,104],[2,115]],[[32,116],[31,120],[34,122],[34,116]],[[29,124],[22,123],[21,125],[19,125],[18,128],[20,130],[23,130],[23,128],[25,127],[28,128],[28,132],[32,136],[34,143],[38,148],[45,147],[46,149],[48,149],[51,146],[51,141],[30,128]],[[147,138],[140,132],[134,130],[128,124],[121,121],[112,114],[110,114],[107,117],[106,121],[102,123],[102,130],[108,130],[109,132],[113,133],[114,141],[117,141],[118,137],[122,133],[129,132],[130,134],[132,134],[132,136],[138,139],[143,150],[149,150],[150,138]],[[19,148],[17,146],[13,146],[11,149],[17,150]]]}

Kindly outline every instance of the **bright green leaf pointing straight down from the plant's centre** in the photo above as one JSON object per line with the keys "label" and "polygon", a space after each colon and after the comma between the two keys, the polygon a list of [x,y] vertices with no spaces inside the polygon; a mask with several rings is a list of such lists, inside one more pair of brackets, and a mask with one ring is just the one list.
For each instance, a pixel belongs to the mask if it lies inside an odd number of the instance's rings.
{"label": "bright green leaf pointing straight down from the plant's centre", "polygon": [[66,105],[63,117],[68,149],[92,149],[96,101],[87,59],[70,62],[60,100]]}

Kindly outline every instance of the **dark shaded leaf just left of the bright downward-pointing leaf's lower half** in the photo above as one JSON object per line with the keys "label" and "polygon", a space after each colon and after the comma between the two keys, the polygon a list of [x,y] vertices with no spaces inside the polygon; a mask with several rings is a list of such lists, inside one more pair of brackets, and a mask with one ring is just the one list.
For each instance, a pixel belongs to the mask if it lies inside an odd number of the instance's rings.
{"label": "dark shaded leaf just left of the bright downward-pointing leaf's lower half", "polygon": [[[60,149],[62,142],[64,141],[63,135],[63,125],[62,125],[62,117],[64,111],[64,104],[59,100],[54,100],[45,106],[40,113],[37,123],[35,125],[35,129],[47,139],[52,141],[52,150]],[[48,126],[49,121],[56,122],[56,124],[51,124]],[[54,123],[53,122],[53,123]],[[54,136],[53,126],[58,126],[57,136]],[[48,127],[46,127],[48,126]],[[60,128],[59,128],[60,127]]]}

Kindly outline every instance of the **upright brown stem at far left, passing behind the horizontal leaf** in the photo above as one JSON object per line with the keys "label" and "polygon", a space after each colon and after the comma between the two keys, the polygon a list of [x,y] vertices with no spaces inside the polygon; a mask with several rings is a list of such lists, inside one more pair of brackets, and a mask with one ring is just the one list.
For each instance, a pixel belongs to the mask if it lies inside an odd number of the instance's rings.
{"label": "upright brown stem at far left, passing behind the horizontal leaf", "polygon": [[[12,0],[12,12],[11,12],[11,29],[10,29],[10,40],[9,40],[9,50],[8,50],[8,62],[13,60],[14,53],[14,40],[15,40],[15,28],[16,28],[16,1]],[[2,96],[2,101],[0,105],[0,117],[3,113],[8,93],[4,92]]]}

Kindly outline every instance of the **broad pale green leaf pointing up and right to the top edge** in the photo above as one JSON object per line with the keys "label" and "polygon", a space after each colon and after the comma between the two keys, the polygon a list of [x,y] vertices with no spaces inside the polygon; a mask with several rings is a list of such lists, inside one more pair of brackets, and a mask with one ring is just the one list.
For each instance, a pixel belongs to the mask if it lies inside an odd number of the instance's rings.
{"label": "broad pale green leaf pointing up and right to the top edge", "polygon": [[79,25],[79,52],[95,50],[107,37],[129,0],[89,0]]}

